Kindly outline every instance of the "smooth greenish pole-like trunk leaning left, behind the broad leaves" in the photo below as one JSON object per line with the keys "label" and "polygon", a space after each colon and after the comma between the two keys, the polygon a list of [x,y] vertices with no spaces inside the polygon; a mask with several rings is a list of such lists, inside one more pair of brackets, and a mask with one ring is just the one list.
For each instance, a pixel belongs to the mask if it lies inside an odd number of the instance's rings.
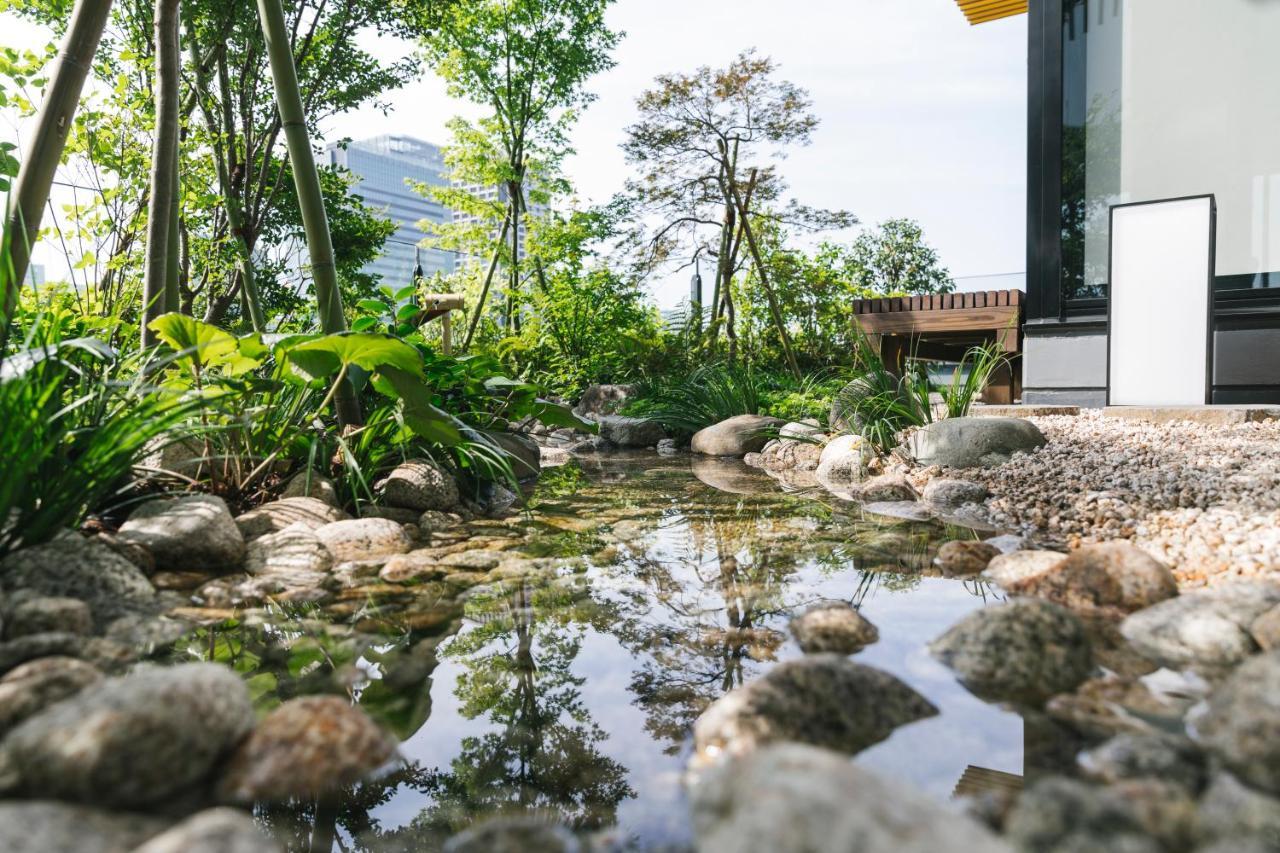
{"label": "smooth greenish pole-like trunk leaning left, behind the broad leaves", "polygon": [[[302,92],[298,88],[298,70],[293,65],[293,49],[289,46],[284,9],[280,6],[280,0],[257,0],[257,12],[262,20],[262,36],[271,63],[271,79],[275,82],[275,105],[280,111],[280,126],[289,149],[293,183],[302,211],[302,228],[311,255],[311,282],[316,292],[320,328],[328,334],[346,332],[347,319],[343,316],[342,297],[338,293],[338,266],[333,256],[329,216],[325,213],[320,173],[316,170],[306,115],[302,111]],[[351,383],[342,383],[334,397],[334,407],[342,425],[361,421],[360,401],[356,400]]]}

